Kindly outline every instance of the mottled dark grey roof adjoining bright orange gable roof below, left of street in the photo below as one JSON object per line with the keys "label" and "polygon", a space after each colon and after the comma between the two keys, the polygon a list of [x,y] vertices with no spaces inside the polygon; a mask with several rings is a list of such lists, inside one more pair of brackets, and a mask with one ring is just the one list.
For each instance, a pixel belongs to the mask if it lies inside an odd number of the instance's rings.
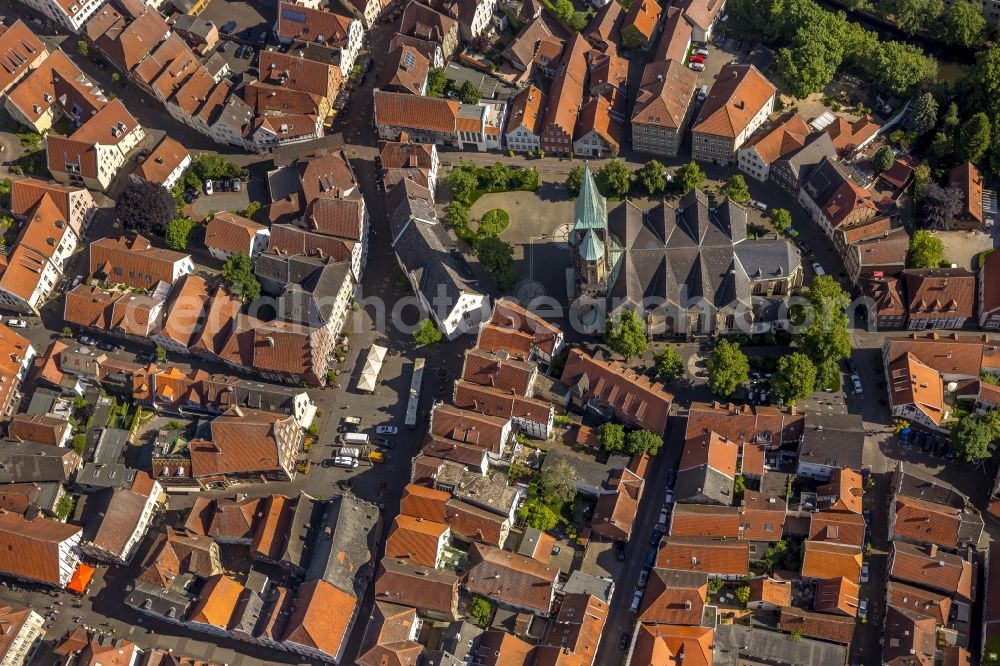
{"label": "mottled dark grey roof adjoining bright orange gable roof below, left of street", "polygon": [[334,495],[316,504],[305,580],[321,578],[360,599],[377,548],[378,507],[350,495]]}

